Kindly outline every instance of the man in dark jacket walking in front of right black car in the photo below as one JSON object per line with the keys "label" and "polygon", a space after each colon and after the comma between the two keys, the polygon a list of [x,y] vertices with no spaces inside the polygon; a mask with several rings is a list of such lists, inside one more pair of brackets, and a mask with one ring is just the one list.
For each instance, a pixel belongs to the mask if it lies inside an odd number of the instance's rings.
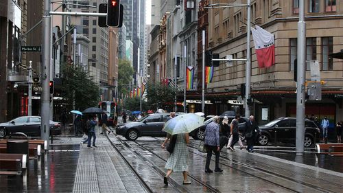
{"label": "man in dark jacket walking in front of right black car", "polygon": [[254,152],[253,146],[255,144],[255,139],[257,138],[257,134],[261,133],[259,130],[259,126],[255,122],[255,117],[250,115],[249,121],[246,122],[246,150],[248,152]]}

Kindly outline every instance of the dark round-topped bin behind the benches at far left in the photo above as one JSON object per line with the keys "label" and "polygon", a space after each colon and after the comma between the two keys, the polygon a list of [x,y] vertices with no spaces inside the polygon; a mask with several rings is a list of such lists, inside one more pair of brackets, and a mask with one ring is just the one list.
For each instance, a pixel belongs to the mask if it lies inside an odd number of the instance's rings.
{"label": "dark round-topped bin behind the benches at far left", "polygon": [[7,152],[29,155],[29,139],[21,132],[12,133],[7,139]]}

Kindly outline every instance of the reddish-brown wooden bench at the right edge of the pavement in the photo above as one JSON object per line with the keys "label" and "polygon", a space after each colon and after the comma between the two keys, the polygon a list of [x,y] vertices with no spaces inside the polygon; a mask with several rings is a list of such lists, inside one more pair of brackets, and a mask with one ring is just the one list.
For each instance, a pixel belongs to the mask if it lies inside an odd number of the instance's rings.
{"label": "reddish-brown wooden bench at the right edge of the pavement", "polygon": [[320,155],[343,156],[343,144],[316,144],[316,162]]}

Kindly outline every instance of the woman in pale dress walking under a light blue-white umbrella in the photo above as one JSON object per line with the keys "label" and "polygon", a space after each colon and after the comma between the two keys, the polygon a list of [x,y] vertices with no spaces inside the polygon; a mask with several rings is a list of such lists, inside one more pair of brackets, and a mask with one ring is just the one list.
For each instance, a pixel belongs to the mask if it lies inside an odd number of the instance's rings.
{"label": "woman in pale dress walking under a light blue-white umbrella", "polygon": [[199,126],[202,126],[203,122],[204,117],[200,117],[193,113],[188,113],[185,115],[178,115],[177,117],[165,123],[163,131],[171,135],[170,141],[175,140],[174,137],[176,137],[174,150],[171,152],[167,163],[165,163],[165,169],[167,169],[167,175],[164,177],[165,185],[168,185],[168,178],[172,172],[182,172],[183,184],[191,184],[191,181],[187,180],[187,144],[189,144],[188,133]]}

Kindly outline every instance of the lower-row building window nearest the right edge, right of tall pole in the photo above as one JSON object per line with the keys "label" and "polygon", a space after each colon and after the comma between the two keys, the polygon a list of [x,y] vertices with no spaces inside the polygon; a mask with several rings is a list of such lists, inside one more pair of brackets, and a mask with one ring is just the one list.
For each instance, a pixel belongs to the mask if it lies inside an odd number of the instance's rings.
{"label": "lower-row building window nearest the right edge, right of tall pole", "polygon": [[329,54],[333,53],[333,38],[322,38],[322,70],[333,70],[333,58]]}

